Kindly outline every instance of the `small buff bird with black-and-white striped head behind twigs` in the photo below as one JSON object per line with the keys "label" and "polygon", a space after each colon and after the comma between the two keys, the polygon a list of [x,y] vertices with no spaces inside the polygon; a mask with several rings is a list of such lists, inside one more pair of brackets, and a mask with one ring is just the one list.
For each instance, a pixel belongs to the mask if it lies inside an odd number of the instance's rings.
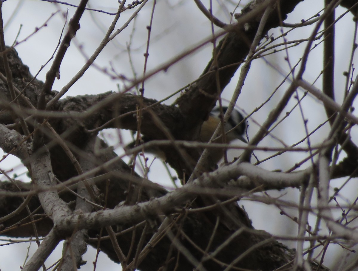
{"label": "small buff bird with black-and-white striped head behind twigs", "polygon": [[[225,114],[227,110],[227,107],[222,107],[222,111]],[[209,140],[211,139],[211,137],[213,136],[216,128],[218,127],[221,118],[220,116],[220,108],[219,107],[215,107],[210,115],[208,120],[206,120],[205,122],[203,122],[203,125],[200,129],[200,140],[202,142],[209,142]],[[228,134],[226,134],[225,138],[226,138],[226,142],[225,143],[230,143],[233,140],[239,139],[242,142],[247,143],[246,139],[244,138],[244,134],[246,132],[246,122],[243,121],[243,116],[240,112],[238,112],[236,109],[234,109],[227,121],[227,123],[225,123],[225,127],[224,130],[225,132],[229,132]],[[240,124],[240,125],[238,125]],[[143,141],[146,142],[145,138],[143,138]],[[214,143],[223,143],[223,137],[220,137],[219,139],[217,139],[216,141],[214,141]],[[132,142],[130,144],[128,144],[126,146],[127,149],[133,148],[135,146],[135,142]],[[165,157],[165,153],[163,151],[161,151],[159,148],[145,148],[144,149],[145,152],[147,153],[151,153],[154,156],[160,158],[161,160],[165,161],[166,157]],[[218,163],[219,160],[223,157],[224,152],[222,149],[212,149],[210,152],[210,157],[212,159],[212,161],[214,163]]]}

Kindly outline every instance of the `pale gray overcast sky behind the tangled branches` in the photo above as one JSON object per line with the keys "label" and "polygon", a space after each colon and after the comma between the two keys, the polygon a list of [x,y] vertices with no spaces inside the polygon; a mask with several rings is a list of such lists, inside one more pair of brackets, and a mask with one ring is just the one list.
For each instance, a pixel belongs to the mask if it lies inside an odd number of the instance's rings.
{"label": "pale gray overcast sky behind the tangled branches", "polygon": [[[221,1],[218,1],[221,3]],[[219,5],[218,2],[214,2],[215,14],[223,21],[229,21],[229,11],[223,9],[223,5]],[[230,9],[233,5],[227,4],[226,6]],[[307,19],[314,15],[320,10],[323,1],[306,0],[304,3],[297,6],[294,13],[292,13],[287,22],[297,23],[301,19]],[[78,1],[68,1],[68,3],[78,3]],[[116,1],[90,1],[91,7],[96,9],[102,9],[110,12],[115,12],[117,9]],[[100,4],[98,4],[100,3]],[[204,4],[205,1],[203,1]],[[36,74],[43,65],[52,55],[55,46],[58,43],[61,29],[64,24],[62,12],[66,12],[68,8],[68,16],[74,13],[74,8],[65,5],[54,5],[43,1],[27,0],[27,1],[5,1],[3,4],[4,22],[5,22],[5,42],[11,45],[19,31],[20,25],[22,25],[18,40],[22,40],[30,33],[34,31],[36,27],[40,27],[51,15],[58,10],[61,10],[55,14],[47,23],[47,26],[41,28],[36,34],[30,36],[26,42],[16,46],[23,62],[29,66],[32,74]],[[132,63],[137,71],[137,75],[140,76],[142,73],[142,67],[144,63],[143,53],[146,45],[146,25],[149,24],[150,13],[152,4],[147,4],[145,8],[140,11],[139,16],[135,22],[135,29],[133,31],[134,36],[132,40]],[[240,10],[240,8],[238,9]],[[337,9],[337,16],[343,13],[344,9]],[[129,12],[128,15],[131,15]],[[128,15],[125,13],[120,23],[117,25],[118,28],[121,24],[125,23],[128,19]],[[337,28],[344,29],[344,31],[337,31],[336,40],[336,67],[342,72],[337,73],[338,76],[335,78],[336,89],[344,89],[345,78],[343,77],[343,71],[347,70],[347,63],[350,56],[350,48],[352,45],[352,33],[353,33],[353,21],[352,16],[345,16],[340,22],[337,23]],[[56,80],[54,84],[55,90],[61,90],[61,88],[78,72],[79,69],[86,62],[86,57],[82,53],[90,56],[96,49],[103,37],[103,29],[106,29],[112,20],[112,16],[101,13],[89,13],[86,12],[81,19],[81,29],[78,31],[76,39],[72,42],[68,49],[66,57],[64,58],[61,65],[61,79]],[[344,25],[343,27],[341,27]],[[122,87],[123,82],[121,80],[113,80],[101,71],[99,68],[110,70],[113,66],[118,74],[123,74],[127,78],[132,78],[133,73],[130,68],[129,58],[126,51],[126,43],[129,42],[129,35],[132,33],[133,25],[130,25],[126,30],[121,33],[118,38],[113,40],[105,50],[100,54],[95,64],[98,68],[89,68],[86,74],[76,82],[73,87],[69,90],[68,95],[83,95],[83,94],[97,94],[106,92],[108,90],[117,90],[117,84]],[[311,29],[301,28],[292,31],[286,38],[288,40],[306,38]],[[205,18],[200,11],[197,9],[193,1],[164,1],[159,0],[154,13],[154,22],[151,34],[151,43],[149,51],[149,62],[148,68],[155,69],[161,63],[164,63],[185,49],[197,44],[199,41],[207,38],[211,33],[210,25],[208,24],[207,18]],[[271,33],[275,33],[274,36],[278,36],[280,33],[279,29],[271,30]],[[282,42],[280,39],[278,43]],[[289,50],[289,59],[291,63],[295,64],[296,61],[302,56],[302,52],[305,44],[291,48]],[[81,50],[79,49],[81,47]],[[347,49],[348,48],[348,49]],[[321,71],[321,49],[315,49],[309,58],[309,63],[304,75],[304,78],[309,82],[314,82],[315,78],[318,77]],[[202,70],[211,58],[212,48],[210,45],[198,50],[195,54],[187,56],[185,59],[175,64],[167,72],[160,72],[153,78],[149,79],[145,85],[145,96],[155,99],[162,99],[182,88],[186,84],[192,82],[202,73]],[[244,110],[246,113],[252,112],[253,109],[260,106],[263,101],[271,94],[271,92],[280,84],[284,79],[282,74],[277,70],[274,70],[269,64],[275,65],[278,69],[282,70],[284,75],[289,71],[289,66],[284,60],[285,52],[270,55],[264,59],[258,59],[252,64],[250,73],[246,79],[245,86],[242,91],[242,95],[238,99],[237,106]],[[50,65],[50,64],[48,64]],[[318,65],[320,65],[318,67]],[[46,66],[42,72],[39,73],[38,79],[44,80],[45,73],[49,66]],[[233,89],[235,88],[239,73],[231,80],[231,83],[225,89],[223,93],[224,99],[230,99]],[[283,93],[288,83],[285,83],[280,89],[279,93]],[[316,83],[316,86],[320,88],[320,80]],[[299,93],[300,95],[303,92]],[[271,101],[265,105],[261,110],[252,116],[252,120],[249,120],[250,127],[248,130],[249,136],[255,134],[258,126],[255,121],[262,123],[266,119],[272,107],[277,103],[280,95],[274,96]],[[337,97],[338,100],[342,97]],[[166,103],[171,103],[175,100],[174,98],[169,99]],[[292,102],[292,106],[293,106]],[[326,117],[325,115],[315,114],[317,108],[319,112],[321,110],[321,104],[314,98],[305,99],[304,112],[309,116],[309,129],[313,130],[318,124],[322,123]],[[313,144],[319,142],[323,137],[326,136],[328,129],[321,129],[321,132],[316,133],[312,137]],[[121,146],[119,146],[118,133],[124,138],[125,142],[130,141],[129,132],[120,131],[106,131],[105,137],[116,147],[116,152],[123,153]],[[303,122],[300,117],[298,110],[292,113],[290,118],[284,121],[279,127],[277,127],[273,134],[282,139],[287,144],[293,144],[299,141],[300,138],[304,137]],[[353,136],[357,136],[357,131],[353,130]],[[281,146],[279,142],[272,138],[267,138],[262,144],[266,146]],[[258,157],[264,158],[269,156],[267,153],[256,153]],[[237,152],[231,153],[232,157],[238,156]],[[275,159],[270,159],[268,162],[262,163],[260,166],[268,169],[283,169],[286,170],[292,166],[294,161],[303,159],[306,154],[303,153],[289,153]],[[300,158],[298,158],[300,157]],[[5,161],[0,163],[1,168],[9,169],[13,168],[15,164],[19,163],[14,157],[8,157]],[[307,166],[304,164],[302,168]],[[15,168],[16,173],[24,172],[24,168]],[[172,187],[172,184],[168,181],[168,174],[163,168],[162,163],[156,159],[151,168],[149,177],[152,181],[163,184],[167,187]],[[26,179],[25,176],[21,176],[19,179]],[[337,184],[338,186],[338,184]],[[347,198],[352,198],[348,193],[352,193],[352,196],[357,191],[356,187],[347,189]],[[283,198],[287,200],[297,201],[298,191],[295,189],[287,189],[282,192],[270,192],[271,196],[277,197],[284,195]],[[296,232],[295,224],[288,218],[281,216],[277,208],[263,205],[255,202],[243,202],[247,212],[253,220],[253,225],[256,228],[266,230],[273,234],[283,234],[282,228],[285,228],[287,235],[294,235]],[[290,210],[288,210],[290,211]],[[295,214],[295,210],[291,210],[292,215]],[[260,213],[260,215],[257,215]],[[251,215],[255,214],[255,215]],[[270,223],[267,223],[267,222]],[[292,243],[289,245],[293,246]],[[1,270],[16,270],[20,265],[23,264],[24,258],[20,258],[20,262],[14,262],[14,257],[18,258],[19,255],[25,255],[26,247],[28,244],[21,245],[10,245],[0,247],[0,253],[2,255],[0,268]],[[32,249],[35,248],[35,244],[32,244]],[[334,247],[334,246],[333,246]],[[332,255],[337,254],[336,251],[329,248],[329,252]],[[32,251],[31,249],[31,251]],[[54,262],[61,255],[62,247],[57,248],[56,256],[53,255],[48,261]],[[90,252],[87,253],[86,257],[88,260],[87,265],[81,267],[81,270],[93,270],[92,261],[94,260],[95,250],[89,248]],[[20,253],[22,251],[23,253]],[[13,255],[13,256],[12,256]],[[100,253],[101,259],[100,264],[111,265],[113,270],[118,265],[113,264],[111,261],[106,261],[106,256]],[[57,257],[57,258],[56,258]],[[335,258],[330,257],[332,261]],[[327,265],[330,261],[329,257],[326,257]],[[109,268],[109,267],[108,267]],[[102,270],[99,268],[98,270]]]}

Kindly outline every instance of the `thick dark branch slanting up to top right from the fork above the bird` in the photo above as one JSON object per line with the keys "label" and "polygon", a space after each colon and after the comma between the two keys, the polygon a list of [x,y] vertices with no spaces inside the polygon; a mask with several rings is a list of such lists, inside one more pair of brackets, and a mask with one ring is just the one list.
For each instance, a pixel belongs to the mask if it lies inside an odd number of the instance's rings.
{"label": "thick dark branch slanting up to top right from the fork above the bird", "polygon": [[[183,95],[176,101],[182,114],[187,117],[185,123],[188,125],[187,130],[189,132],[194,129],[194,136],[198,135],[198,131],[195,128],[207,118],[208,113],[216,103],[218,98],[216,71],[218,70],[219,73],[219,86],[221,88],[219,90],[222,92],[246,58],[257,33],[261,15],[267,5],[274,4],[274,9],[267,20],[262,37],[267,34],[269,29],[280,26],[280,18],[282,20],[286,19],[287,14],[300,2],[301,0],[277,2],[255,0],[246,5],[240,16],[237,17],[237,20],[250,13],[256,16],[250,18],[249,21],[243,21],[229,28],[229,33],[217,46],[217,59],[215,61],[212,59],[209,62],[200,79],[187,89],[186,95]],[[216,65],[213,63],[216,63]]]}

